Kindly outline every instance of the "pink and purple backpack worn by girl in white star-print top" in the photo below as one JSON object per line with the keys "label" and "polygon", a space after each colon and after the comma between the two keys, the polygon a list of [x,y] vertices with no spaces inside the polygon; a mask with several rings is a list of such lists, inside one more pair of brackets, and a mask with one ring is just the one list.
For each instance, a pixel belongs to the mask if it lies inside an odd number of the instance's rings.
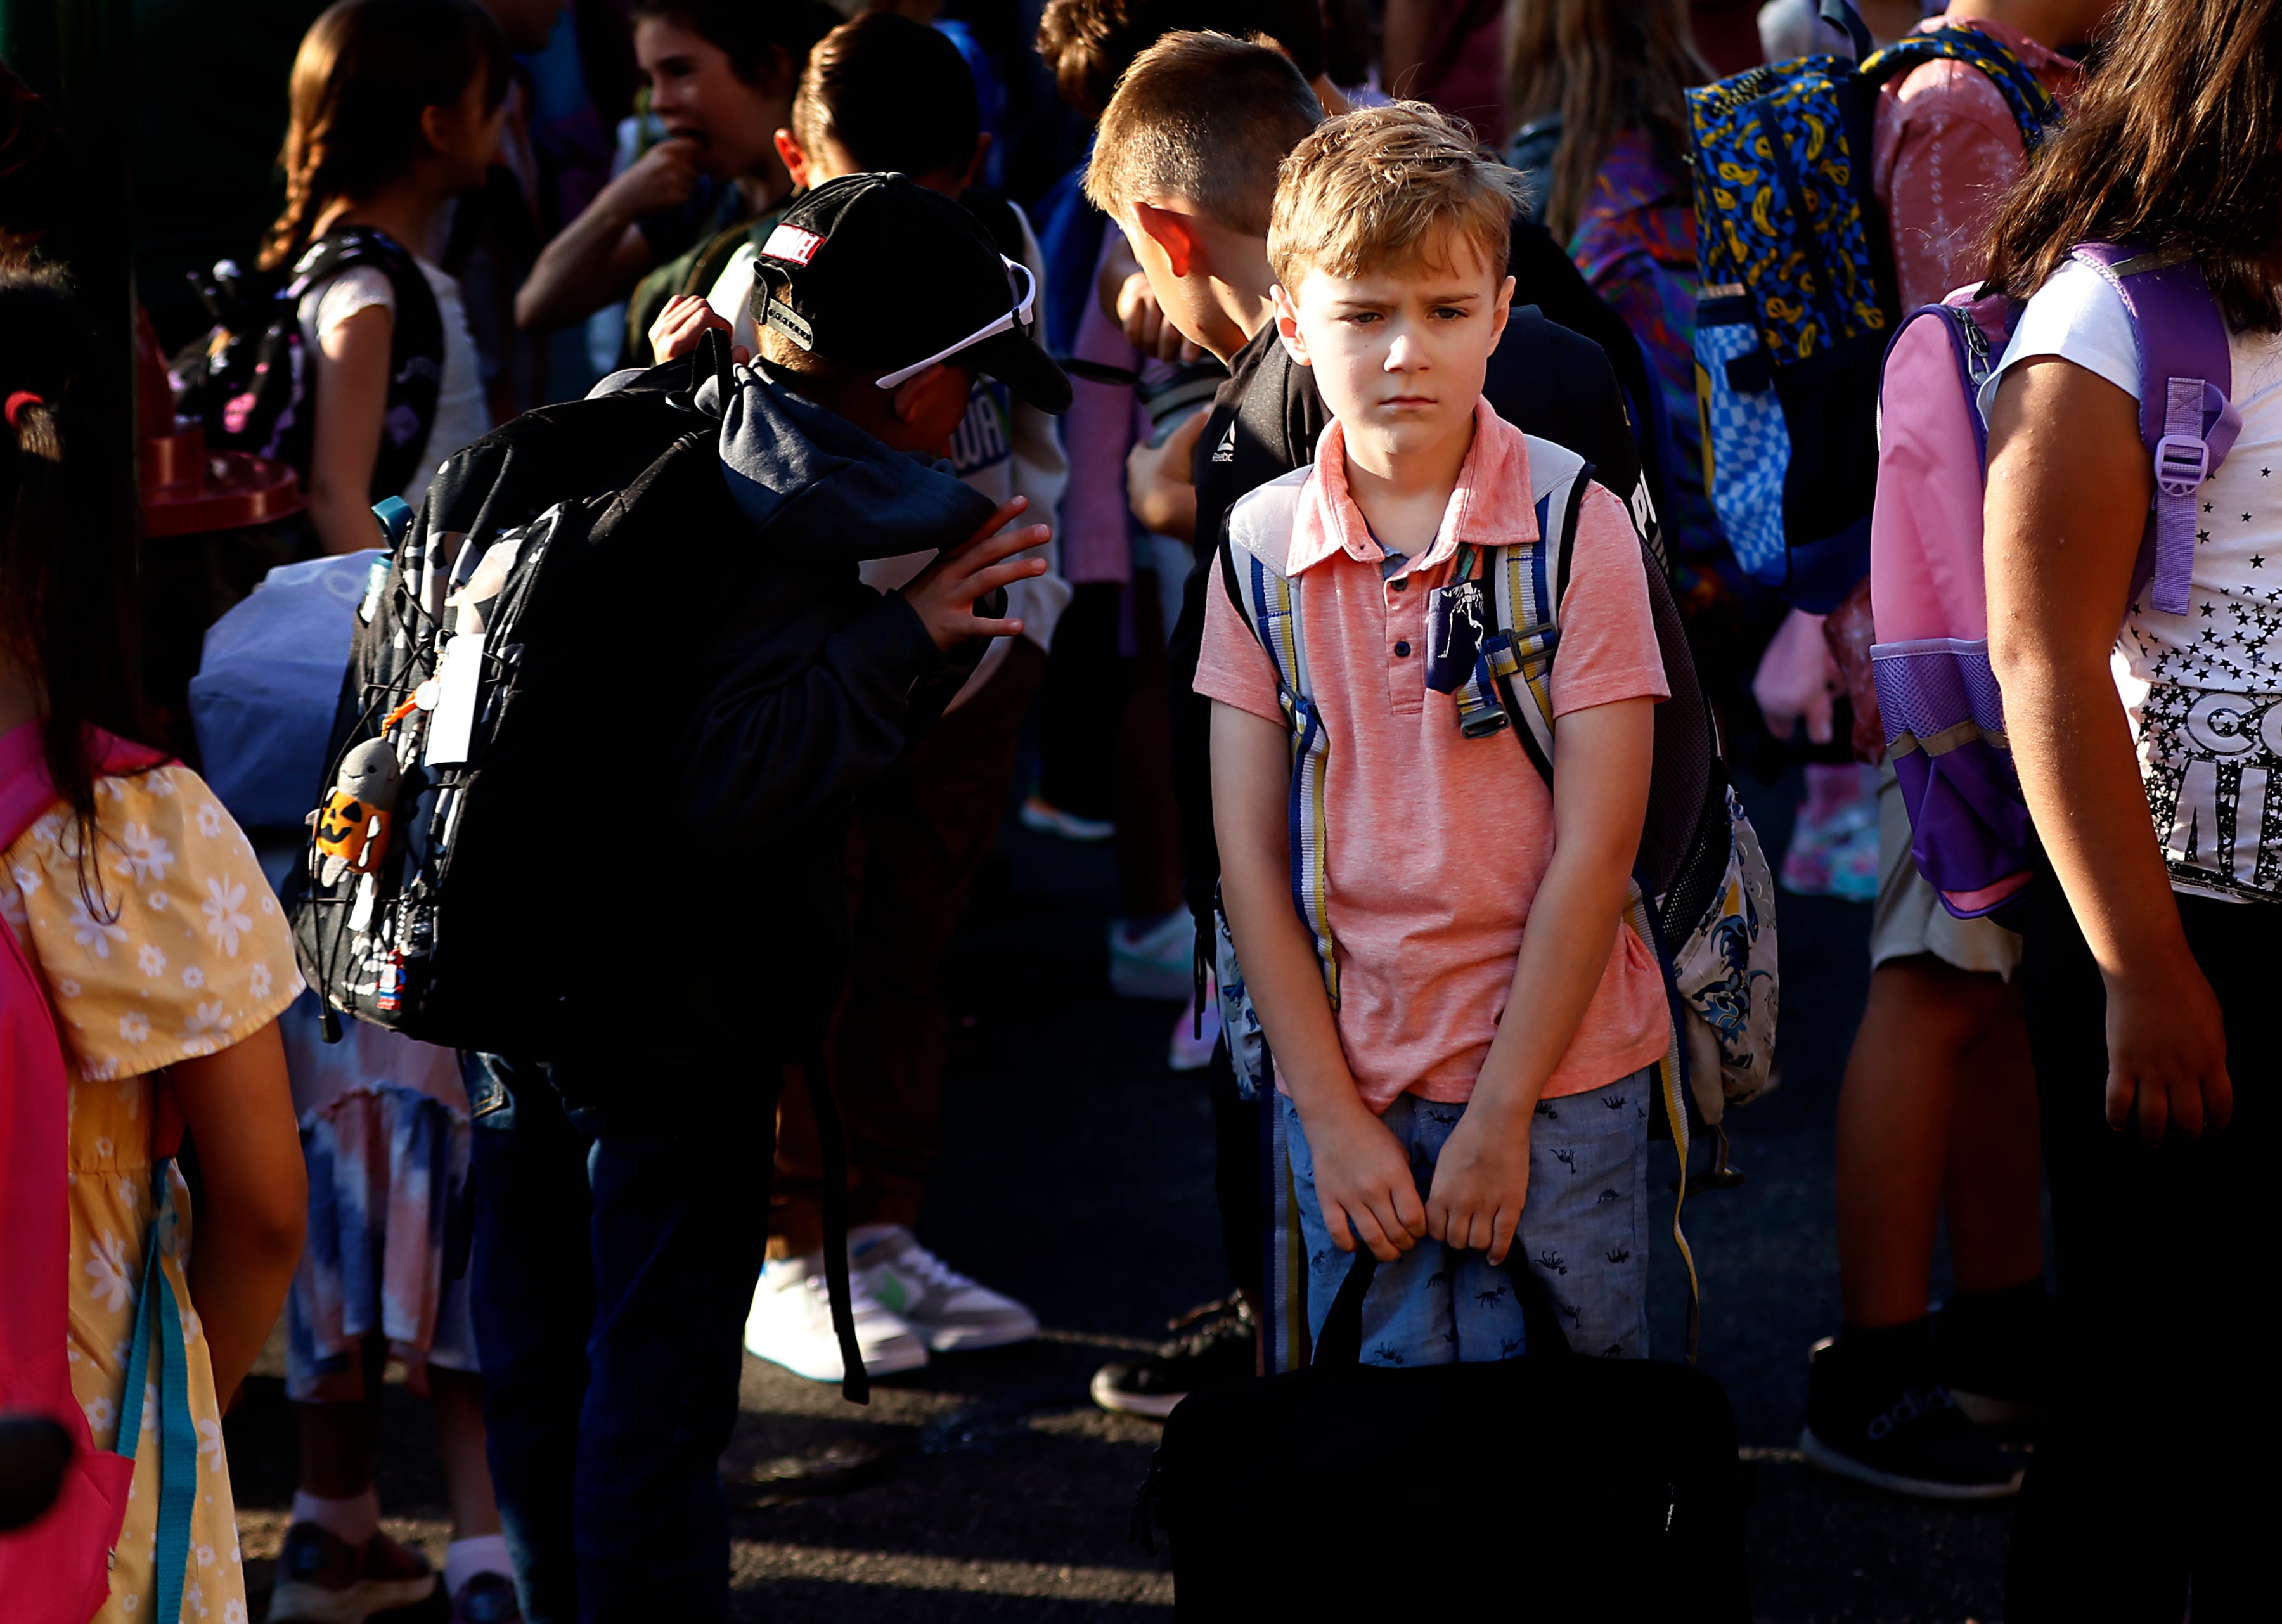
{"label": "pink and purple backpack worn by girl in white star-print top", "polygon": [[[2086,242],[2074,258],[2122,297],[2141,358],[2141,438],[2154,506],[2131,595],[2186,614],[2195,490],[2241,431],[2227,401],[2227,324],[2186,255]],[[1887,760],[1910,810],[1910,855],[1958,919],[2017,919],[2036,835],[2013,771],[2004,693],[1990,671],[1981,573],[1988,424],[1978,395],[2020,303],[1958,290],[1903,319],[1878,381],[1871,509],[1871,673]]]}

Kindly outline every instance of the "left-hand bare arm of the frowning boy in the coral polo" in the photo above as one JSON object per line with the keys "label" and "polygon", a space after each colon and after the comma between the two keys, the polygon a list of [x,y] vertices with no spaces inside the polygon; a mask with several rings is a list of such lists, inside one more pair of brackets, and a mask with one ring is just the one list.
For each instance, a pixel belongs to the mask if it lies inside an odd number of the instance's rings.
{"label": "left-hand bare arm of the frowning boy in the coral polo", "polygon": [[1410,1159],[1356,1093],[1314,942],[1292,912],[1289,794],[1289,734],[1264,716],[1214,700],[1212,823],[1221,842],[1221,903],[1244,960],[1244,985],[1308,1131],[1314,1193],[1333,1245],[1353,1252],[1362,1241],[1387,1264],[1426,1234],[1426,1209]]}

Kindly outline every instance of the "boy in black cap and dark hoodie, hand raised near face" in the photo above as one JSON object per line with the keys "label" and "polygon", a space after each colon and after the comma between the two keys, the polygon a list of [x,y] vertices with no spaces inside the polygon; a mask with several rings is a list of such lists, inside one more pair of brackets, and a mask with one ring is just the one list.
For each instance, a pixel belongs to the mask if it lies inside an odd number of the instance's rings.
{"label": "boy in black cap and dark hoodie, hand raised near face", "polygon": [[[728,1613],[714,1471],[778,1079],[819,1051],[844,976],[849,805],[984,639],[1022,630],[995,595],[1045,570],[1020,557],[1045,527],[1004,529],[1020,502],[993,511],[936,465],[977,372],[1068,406],[1029,312],[1029,276],[949,198],[904,176],[817,187],[760,251],[760,365],[726,406],[717,381],[698,390],[719,436],[685,436],[644,477],[675,488],[650,495],[671,518],[644,547],[648,602],[628,609],[671,616],[673,639],[644,650],[655,671],[623,673],[648,734],[625,744],[666,760],[596,819],[612,848],[596,912],[625,985],[596,990],[593,1040],[550,1074],[470,1065],[488,1129],[472,1298],[532,1624]],[[940,557],[901,591],[860,584],[860,559],[920,547]],[[598,705],[607,730],[623,705]]]}

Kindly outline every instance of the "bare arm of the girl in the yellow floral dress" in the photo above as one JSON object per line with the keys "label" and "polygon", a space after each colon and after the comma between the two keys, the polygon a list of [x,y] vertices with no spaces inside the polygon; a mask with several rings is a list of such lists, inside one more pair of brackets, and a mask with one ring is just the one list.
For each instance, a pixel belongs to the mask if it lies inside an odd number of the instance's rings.
{"label": "bare arm of the girl in the yellow floral dress", "polygon": [[215,1398],[228,1410],[285,1307],[308,1220],[308,1168],[276,1022],[219,1054],[180,1061],[173,1090],[205,1191],[192,1225],[189,1302],[215,1366]]}

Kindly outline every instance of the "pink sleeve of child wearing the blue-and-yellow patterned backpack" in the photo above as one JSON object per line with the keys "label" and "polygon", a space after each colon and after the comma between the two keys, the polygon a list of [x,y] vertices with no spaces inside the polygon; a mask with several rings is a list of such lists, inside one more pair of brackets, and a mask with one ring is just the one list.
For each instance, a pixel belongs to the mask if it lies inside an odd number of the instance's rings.
{"label": "pink sleeve of child wearing the blue-and-yellow patterned backpack", "polygon": [[2020,169],[2020,125],[1981,68],[1928,62],[1878,94],[1871,189],[1894,233],[1903,310],[1981,278],[1981,237]]}

